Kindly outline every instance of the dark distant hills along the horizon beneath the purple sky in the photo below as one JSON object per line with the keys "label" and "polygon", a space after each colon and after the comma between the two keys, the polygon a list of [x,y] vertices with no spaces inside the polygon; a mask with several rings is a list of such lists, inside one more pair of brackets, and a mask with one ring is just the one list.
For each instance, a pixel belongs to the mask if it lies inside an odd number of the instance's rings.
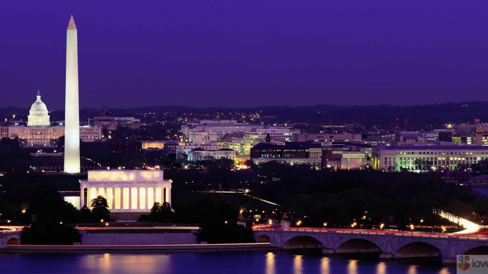
{"label": "dark distant hills along the horizon beneath the purple sky", "polygon": [[[28,109],[6,107],[0,108],[0,115],[28,115]],[[80,119],[94,117],[101,110],[83,108],[80,110]],[[439,127],[446,123],[472,123],[474,118],[481,122],[488,122],[488,102],[462,102],[443,103],[415,106],[394,105],[365,105],[365,106],[264,106],[254,108],[227,108],[227,107],[185,107],[185,106],[149,106],[128,109],[112,109],[109,111],[115,116],[137,116],[138,113],[148,112],[174,112],[177,114],[216,114],[219,113],[258,113],[261,116],[276,116],[278,122],[305,122],[314,124],[344,124],[361,123],[368,126],[396,127],[400,129],[426,129]],[[51,112],[51,120],[63,120],[64,111]],[[397,120],[398,118],[398,120]],[[405,122],[407,121],[407,124]]]}

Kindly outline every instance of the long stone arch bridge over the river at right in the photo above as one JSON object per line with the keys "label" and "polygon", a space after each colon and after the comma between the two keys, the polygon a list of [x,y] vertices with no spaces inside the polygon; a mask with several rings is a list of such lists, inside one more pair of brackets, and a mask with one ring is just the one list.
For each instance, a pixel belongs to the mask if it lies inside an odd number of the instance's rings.
{"label": "long stone arch bridge over the river at right", "polygon": [[488,254],[488,237],[389,231],[314,228],[253,230],[256,242],[283,249],[320,248],[323,254],[379,253],[380,258],[442,257],[455,262],[458,254]]}

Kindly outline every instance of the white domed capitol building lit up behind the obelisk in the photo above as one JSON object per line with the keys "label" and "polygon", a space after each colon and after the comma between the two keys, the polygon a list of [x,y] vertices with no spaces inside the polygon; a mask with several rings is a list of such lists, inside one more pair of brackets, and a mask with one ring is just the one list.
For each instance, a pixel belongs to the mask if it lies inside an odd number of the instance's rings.
{"label": "white domed capitol building lit up behind the obelisk", "polygon": [[[29,111],[27,126],[19,124],[0,126],[0,137],[18,137],[22,147],[55,147],[61,136],[64,136],[64,124],[51,125],[49,111],[41,100],[40,91]],[[84,142],[98,141],[102,138],[102,128],[81,126],[80,138]]]}

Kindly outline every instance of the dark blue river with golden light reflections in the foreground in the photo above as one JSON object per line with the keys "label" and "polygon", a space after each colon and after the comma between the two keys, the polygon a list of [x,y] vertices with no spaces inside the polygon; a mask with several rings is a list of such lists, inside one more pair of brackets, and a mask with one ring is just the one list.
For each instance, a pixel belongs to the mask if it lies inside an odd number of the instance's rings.
{"label": "dark blue river with golden light reflections in the foreground", "polygon": [[322,256],[288,251],[167,254],[0,254],[5,274],[424,274],[456,273],[439,260],[343,255]]}

